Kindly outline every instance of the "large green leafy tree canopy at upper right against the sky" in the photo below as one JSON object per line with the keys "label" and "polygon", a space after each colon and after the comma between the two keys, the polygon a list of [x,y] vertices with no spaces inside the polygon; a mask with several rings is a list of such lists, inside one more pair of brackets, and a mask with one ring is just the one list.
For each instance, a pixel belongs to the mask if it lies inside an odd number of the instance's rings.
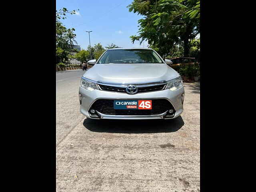
{"label": "large green leafy tree canopy at upper right against the sky", "polygon": [[133,0],[128,8],[144,16],[138,20],[138,35],[130,36],[132,43],[147,40],[162,56],[175,45],[183,44],[184,56],[188,56],[189,41],[200,32],[200,1]]}

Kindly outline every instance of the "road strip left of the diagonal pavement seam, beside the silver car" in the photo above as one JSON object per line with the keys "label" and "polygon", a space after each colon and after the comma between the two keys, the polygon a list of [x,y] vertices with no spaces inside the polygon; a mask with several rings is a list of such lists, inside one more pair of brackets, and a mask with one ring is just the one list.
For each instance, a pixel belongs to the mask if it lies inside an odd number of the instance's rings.
{"label": "road strip left of the diagonal pavement seam, beside the silver car", "polygon": [[[78,89],[83,70],[56,72],[56,145],[84,119],[79,112]],[[57,148],[58,149],[58,148]]]}

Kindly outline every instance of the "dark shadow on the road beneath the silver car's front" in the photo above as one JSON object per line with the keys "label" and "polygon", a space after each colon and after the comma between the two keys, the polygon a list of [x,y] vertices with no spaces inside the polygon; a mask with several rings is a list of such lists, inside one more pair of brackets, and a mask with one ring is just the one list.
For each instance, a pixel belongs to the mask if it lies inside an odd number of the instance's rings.
{"label": "dark shadow on the road beneath the silver car's front", "polygon": [[83,125],[92,132],[168,133],[178,131],[184,125],[184,121],[181,116],[170,120],[95,120],[86,118]]}

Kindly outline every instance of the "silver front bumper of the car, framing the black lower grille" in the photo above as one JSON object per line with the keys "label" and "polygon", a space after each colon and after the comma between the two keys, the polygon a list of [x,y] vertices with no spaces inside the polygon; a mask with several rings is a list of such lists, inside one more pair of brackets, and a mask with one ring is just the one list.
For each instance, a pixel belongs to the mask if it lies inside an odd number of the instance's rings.
{"label": "silver front bumper of the car, framing the black lower grille", "polygon": [[[181,87],[175,91],[171,90],[161,90],[155,92],[147,92],[147,93],[138,93],[134,95],[126,94],[126,93],[117,93],[117,92],[108,92],[102,90],[93,90],[89,91],[82,87],[79,88],[79,93],[82,94],[82,104],[80,104],[80,112],[84,114],[87,118],[91,119],[99,119],[92,118],[89,115],[88,110],[92,106],[92,104],[98,99],[130,99],[130,100],[150,100],[150,99],[167,99],[175,109],[175,115],[171,118],[173,119],[183,112],[183,104],[182,104],[182,94],[184,94],[184,87]],[[164,115],[166,113],[157,114],[157,115],[108,115],[108,114],[100,114],[101,119],[130,119],[130,120],[139,120],[139,119],[165,119]]]}

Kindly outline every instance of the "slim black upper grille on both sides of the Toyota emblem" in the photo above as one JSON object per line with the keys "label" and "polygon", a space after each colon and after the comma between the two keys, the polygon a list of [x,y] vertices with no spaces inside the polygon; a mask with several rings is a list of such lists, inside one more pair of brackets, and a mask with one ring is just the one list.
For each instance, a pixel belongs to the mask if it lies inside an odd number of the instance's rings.
{"label": "slim black upper grille on both sides of the Toyota emblem", "polygon": [[[119,92],[119,93],[126,93],[126,88],[120,88],[120,87],[114,87],[114,86],[106,86],[106,85],[100,85],[100,88],[104,91],[112,91],[112,92]],[[147,86],[147,87],[138,87],[138,93],[146,93],[151,91],[160,91],[164,89],[163,85],[155,85],[155,86]]]}

